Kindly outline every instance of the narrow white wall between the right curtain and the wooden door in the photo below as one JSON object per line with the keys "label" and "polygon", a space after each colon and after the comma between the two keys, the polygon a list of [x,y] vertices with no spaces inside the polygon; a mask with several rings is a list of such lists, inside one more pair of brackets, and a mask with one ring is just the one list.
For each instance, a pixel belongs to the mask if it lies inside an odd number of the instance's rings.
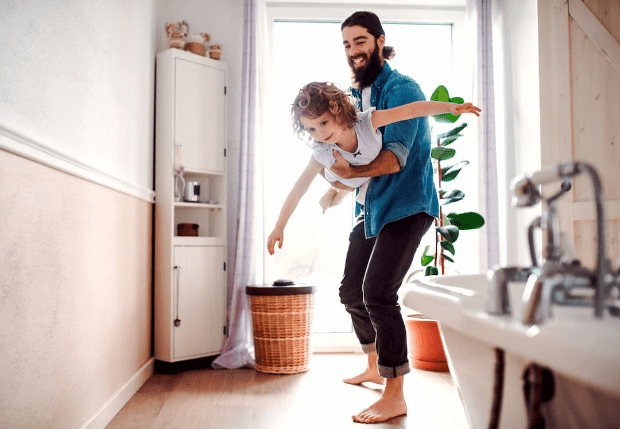
{"label": "narrow white wall between the right curtain and the wooden door", "polygon": [[492,7],[500,263],[529,265],[527,227],[540,209],[512,207],[509,187],[541,165],[537,0]]}

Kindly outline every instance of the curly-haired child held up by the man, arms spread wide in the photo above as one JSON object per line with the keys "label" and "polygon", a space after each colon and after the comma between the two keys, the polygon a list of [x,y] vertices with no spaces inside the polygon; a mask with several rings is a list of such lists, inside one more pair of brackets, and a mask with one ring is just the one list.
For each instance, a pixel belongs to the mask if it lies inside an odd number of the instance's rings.
{"label": "curly-haired child held up by the man, arms spread wide", "polygon": [[334,150],[351,165],[368,164],[376,158],[383,146],[379,128],[394,122],[441,113],[473,113],[480,116],[480,108],[471,103],[416,101],[386,110],[370,108],[365,112],[357,112],[350,96],[331,83],[312,82],[303,87],[291,106],[293,128],[300,138],[310,141],[313,155],[282,205],[276,225],[267,240],[269,253],[274,254],[276,243],[282,248],[284,228],[317,175],[322,175],[330,183],[340,183],[338,188],[330,188],[319,201],[323,213],[340,203],[356,188],[357,201],[364,204],[370,178],[344,179],[332,173],[329,167],[336,161]]}

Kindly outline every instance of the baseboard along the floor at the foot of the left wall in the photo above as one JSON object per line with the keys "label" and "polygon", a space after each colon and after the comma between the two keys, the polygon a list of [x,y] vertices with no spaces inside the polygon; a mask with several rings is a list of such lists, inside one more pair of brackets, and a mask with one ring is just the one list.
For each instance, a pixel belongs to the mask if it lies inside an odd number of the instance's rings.
{"label": "baseboard along the floor at the foot of the left wall", "polygon": [[125,406],[131,397],[153,375],[155,358],[149,359],[138,369],[127,383],[87,422],[79,429],[104,429],[114,416]]}

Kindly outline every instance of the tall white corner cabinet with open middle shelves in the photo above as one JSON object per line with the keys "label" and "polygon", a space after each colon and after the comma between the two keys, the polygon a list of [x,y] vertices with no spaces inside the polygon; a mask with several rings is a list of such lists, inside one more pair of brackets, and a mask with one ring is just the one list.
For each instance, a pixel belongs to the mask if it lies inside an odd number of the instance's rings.
{"label": "tall white corner cabinet with open middle shelves", "polygon": [[[156,70],[155,358],[176,362],[220,353],[226,333],[226,65],[168,49]],[[179,165],[198,201],[175,199]]]}

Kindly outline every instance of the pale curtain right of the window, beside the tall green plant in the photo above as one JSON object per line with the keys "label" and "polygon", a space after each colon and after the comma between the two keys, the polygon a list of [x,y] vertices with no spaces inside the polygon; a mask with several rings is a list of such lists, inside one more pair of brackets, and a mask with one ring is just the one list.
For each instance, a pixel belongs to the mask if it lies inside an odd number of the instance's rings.
{"label": "pale curtain right of the window, beside the tall green plant", "polygon": [[481,100],[482,118],[479,121],[480,132],[480,165],[483,174],[481,176],[481,196],[483,199],[483,211],[485,227],[481,230],[481,236],[486,235],[487,268],[493,268],[499,264],[499,205],[497,192],[497,158],[496,158],[496,134],[495,134],[495,97],[493,90],[493,39],[491,27],[491,0],[467,0],[467,21],[469,34],[474,35],[472,49],[476,50],[474,69],[477,88],[477,98]]}

